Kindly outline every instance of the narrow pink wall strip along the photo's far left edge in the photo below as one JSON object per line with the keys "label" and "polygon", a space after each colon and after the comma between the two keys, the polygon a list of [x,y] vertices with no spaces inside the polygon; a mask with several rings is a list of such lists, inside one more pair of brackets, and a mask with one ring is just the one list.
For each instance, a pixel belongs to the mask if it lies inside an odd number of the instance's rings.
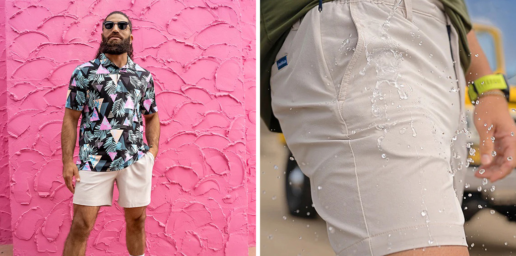
{"label": "narrow pink wall strip along the photo's far left edge", "polygon": [[[5,1],[0,1],[0,13],[5,13]],[[12,244],[5,47],[5,15],[0,14],[0,245]]]}

